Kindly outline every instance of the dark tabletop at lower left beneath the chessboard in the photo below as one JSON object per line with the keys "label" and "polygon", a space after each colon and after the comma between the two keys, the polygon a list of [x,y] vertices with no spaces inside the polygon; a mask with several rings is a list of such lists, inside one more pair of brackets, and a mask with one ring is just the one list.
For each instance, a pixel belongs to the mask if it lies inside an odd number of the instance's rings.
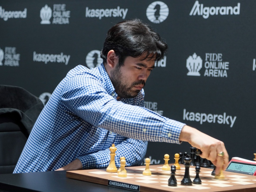
{"label": "dark tabletop at lower left beneath the chessboard", "polygon": [[66,171],[47,171],[21,174],[0,174],[0,191],[91,191],[127,192],[127,190],[79,181],[66,177]]}

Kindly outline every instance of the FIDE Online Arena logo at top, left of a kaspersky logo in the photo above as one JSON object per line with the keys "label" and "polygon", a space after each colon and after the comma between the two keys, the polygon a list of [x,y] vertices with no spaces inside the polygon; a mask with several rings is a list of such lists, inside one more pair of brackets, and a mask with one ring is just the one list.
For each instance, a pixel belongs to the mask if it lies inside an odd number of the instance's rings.
{"label": "FIDE Online Arena logo at top, left of a kaspersky logo", "polygon": [[53,11],[45,5],[40,10],[41,24],[50,24],[50,18],[53,17],[52,24],[69,24],[70,11],[66,10],[66,4],[54,4]]}

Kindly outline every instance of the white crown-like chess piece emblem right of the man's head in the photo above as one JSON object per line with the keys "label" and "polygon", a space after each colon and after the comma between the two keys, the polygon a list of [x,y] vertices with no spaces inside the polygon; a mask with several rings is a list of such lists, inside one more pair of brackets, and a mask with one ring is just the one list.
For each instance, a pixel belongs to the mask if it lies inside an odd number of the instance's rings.
{"label": "white crown-like chess piece emblem right of the man's head", "polygon": [[203,60],[200,56],[197,56],[196,53],[193,56],[189,56],[187,58],[187,69],[188,69],[188,76],[200,76],[199,70],[202,68]]}

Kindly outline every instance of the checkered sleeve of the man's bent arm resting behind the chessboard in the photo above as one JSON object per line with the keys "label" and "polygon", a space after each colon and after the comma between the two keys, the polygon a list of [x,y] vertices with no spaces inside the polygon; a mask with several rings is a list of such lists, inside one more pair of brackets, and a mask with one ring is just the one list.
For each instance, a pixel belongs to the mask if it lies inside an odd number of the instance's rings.
{"label": "checkered sleeve of the man's bent arm resting behind the chessboard", "polygon": [[[116,145],[115,163],[120,167],[120,158],[126,158],[126,166],[141,165],[146,154],[148,142],[135,139],[126,139]],[[106,168],[110,163],[110,150],[102,150],[97,153],[85,155],[77,158],[81,161],[83,169]]]}

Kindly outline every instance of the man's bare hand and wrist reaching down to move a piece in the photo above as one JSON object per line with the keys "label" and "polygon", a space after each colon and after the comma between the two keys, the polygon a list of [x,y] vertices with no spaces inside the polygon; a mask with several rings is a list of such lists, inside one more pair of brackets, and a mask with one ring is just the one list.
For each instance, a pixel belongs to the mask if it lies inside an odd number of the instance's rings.
{"label": "man's bare hand and wrist reaching down to move a piece", "polygon": [[[223,142],[189,126],[184,126],[182,128],[180,140],[188,142],[193,147],[200,149],[202,151],[200,156],[212,161],[212,163],[216,166],[215,171],[217,174],[220,172],[220,168],[222,166],[223,170],[225,170],[228,166],[229,155]],[[221,156],[218,156],[220,152],[224,152],[223,159]]]}

